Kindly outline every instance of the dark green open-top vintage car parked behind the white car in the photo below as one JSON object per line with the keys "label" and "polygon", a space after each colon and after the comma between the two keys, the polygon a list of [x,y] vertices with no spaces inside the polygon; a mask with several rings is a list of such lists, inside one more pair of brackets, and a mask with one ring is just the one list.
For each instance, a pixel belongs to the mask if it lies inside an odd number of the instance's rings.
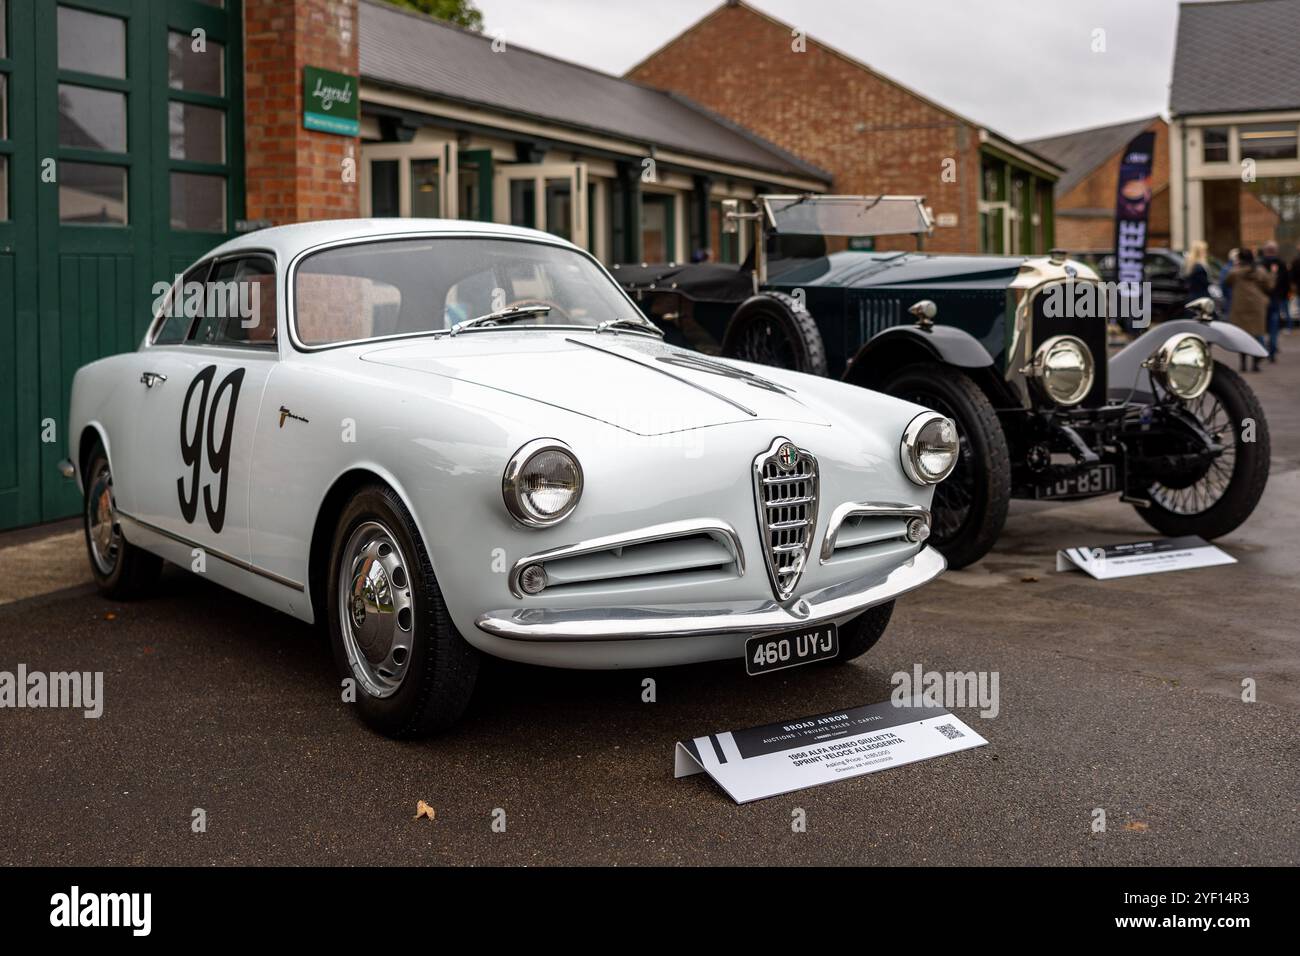
{"label": "dark green open-top vintage car parked behind the white car", "polygon": [[[740,267],[620,267],[670,341],[828,375],[952,418],[962,451],[933,502],[950,567],[982,558],[1011,498],[1117,494],[1165,535],[1240,525],[1269,477],[1269,429],[1212,346],[1262,356],[1209,299],[1112,352],[1128,290],[1063,252],[867,252],[854,237],[928,233],[915,196],[763,196]],[[918,242],[919,245],[919,242]],[[838,246],[838,251],[829,251]]]}

